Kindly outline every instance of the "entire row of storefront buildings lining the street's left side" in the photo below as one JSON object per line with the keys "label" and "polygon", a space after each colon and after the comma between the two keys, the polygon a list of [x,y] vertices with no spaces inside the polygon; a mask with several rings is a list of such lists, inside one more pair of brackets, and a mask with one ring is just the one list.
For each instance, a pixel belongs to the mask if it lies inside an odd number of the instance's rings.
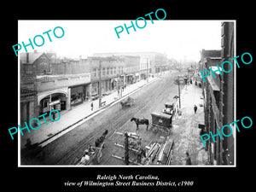
{"label": "entire row of storefront buildings lining the street's left side", "polygon": [[167,69],[166,55],[154,52],[95,54],[78,60],[59,59],[54,52],[20,53],[21,122],[53,108],[68,110]]}

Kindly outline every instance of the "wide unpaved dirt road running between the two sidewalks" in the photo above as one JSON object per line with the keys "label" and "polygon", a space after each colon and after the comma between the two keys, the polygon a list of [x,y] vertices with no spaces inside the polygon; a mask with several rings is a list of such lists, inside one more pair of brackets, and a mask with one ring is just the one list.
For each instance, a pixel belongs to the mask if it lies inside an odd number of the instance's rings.
{"label": "wide unpaved dirt road running between the two sidewalks", "polygon": [[[121,108],[120,103],[109,107],[95,117],[88,119],[84,124],[77,126],[67,134],[57,138],[54,142],[44,147],[44,160],[37,162],[39,165],[73,165],[76,158],[81,157],[85,148],[94,145],[96,138],[102,136],[108,129],[105,139],[105,148],[102,149],[101,165],[123,165],[121,160],[113,158],[112,154],[123,155],[122,148],[114,143],[123,143],[124,138],[113,134],[114,131],[136,131],[136,125],[131,122],[132,117],[147,118],[151,122],[152,112],[161,112],[165,102],[171,102],[177,95],[177,84],[173,84],[177,72],[163,74],[162,77],[148,86],[143,87],[131,97],[136,104],[131,108]],[[157,140],[160,135],[146,131],[141,125],[139,134],[143,137],[143,144]]]}

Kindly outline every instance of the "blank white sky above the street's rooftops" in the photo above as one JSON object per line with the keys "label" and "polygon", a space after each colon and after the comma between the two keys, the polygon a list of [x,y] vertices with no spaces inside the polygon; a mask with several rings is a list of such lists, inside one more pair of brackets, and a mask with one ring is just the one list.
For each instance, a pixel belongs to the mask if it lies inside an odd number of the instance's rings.
{"label": "blank white sky above the street's rooftops", "polygon": [[[134,25],[135,20],[132,20]],[[82,58],[93,53],[104,52],[147,52],[164,53],[169,59],[177,61],[199,61],[201,49],[221,49],[221,21],[223,20],[146,20],[147,25],[131,27],[130,34],[125,26],[131,26],[131,20],[19,20],[17,44],[29,44],[29,38],[37,35],[44,37],[44,45],[34,48],[38,51],[54,50],[57,56]],[[139,20],[138,26],[144,21]],[[53,30],[61,26],[65,32],[62,38],[55,38]],[[114,28],[123,26],[124,31],[116,35]],[[120,28],[119,28],[120,29]],[[118,30],[119,30],[118,29]],[[49,32],[52,42],[49,42]],[[57,29],[57,35],[61,30]],[[37,43],[42,42],[36,38]],[[32,52],[31,46],[26,47]],[[19,52],[26,52],[22,47]],[[15,53],[14,53],[15,54]]]}

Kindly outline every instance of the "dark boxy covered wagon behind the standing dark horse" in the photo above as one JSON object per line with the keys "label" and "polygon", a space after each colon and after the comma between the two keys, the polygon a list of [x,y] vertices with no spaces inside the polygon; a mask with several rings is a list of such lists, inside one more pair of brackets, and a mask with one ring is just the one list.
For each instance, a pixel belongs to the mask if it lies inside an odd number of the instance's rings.
{"label": "dark boxy covered wagon behind the standing dark horse", "polygon": [[166,132],[167,135],[171,133],[172,115],[166,113],[151,113],[152,123],[150,129],[154,132]]}

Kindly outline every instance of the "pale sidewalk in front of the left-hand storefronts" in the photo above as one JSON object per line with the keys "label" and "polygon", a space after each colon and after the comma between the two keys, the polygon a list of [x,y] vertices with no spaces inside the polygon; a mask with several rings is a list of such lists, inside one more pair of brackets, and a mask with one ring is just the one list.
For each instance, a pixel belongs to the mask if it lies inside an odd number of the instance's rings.
{"label": "pale sidewalk in front of the left-hand storefronts", "polygon": [[[44,119],[41,119],[41,126],[38,130],[30,129],[30,132],[25,132],[24,135],[20,135],[21,139],[21,148],[26,144],[26,139],[29,138],[32,143],[44,143],[45,141],[54,138],[62,131],[67,131],[67,128],[76,125],[79,121],[89,117],[90,115],[101,111],[103,108],[108,108],[109,105],[113,104],[113,102],[119,102],[124,99],[126,96],[131,93],[139,90],[145,85],[148,85],[159,78],[149,78],[148,83],[147,80],[141,80],[135,84],[128,85],[125,90],[122,92],[122,97],[118,95],[117,91],[114,91],[112,94],[108,96],[102,97],[102,102],[106,102],[106,106],[99,108],[99,99],[95,101],[88,101],[76,106],[70,110],[65,110],[61,112],[61,119],[58,121],[51,121],[49,117],[46,118],[48,125],[45,124]],[[90,108],[90,104],[93,102],[93,110]],[[56,117],[57,119],[58,117]]]}

